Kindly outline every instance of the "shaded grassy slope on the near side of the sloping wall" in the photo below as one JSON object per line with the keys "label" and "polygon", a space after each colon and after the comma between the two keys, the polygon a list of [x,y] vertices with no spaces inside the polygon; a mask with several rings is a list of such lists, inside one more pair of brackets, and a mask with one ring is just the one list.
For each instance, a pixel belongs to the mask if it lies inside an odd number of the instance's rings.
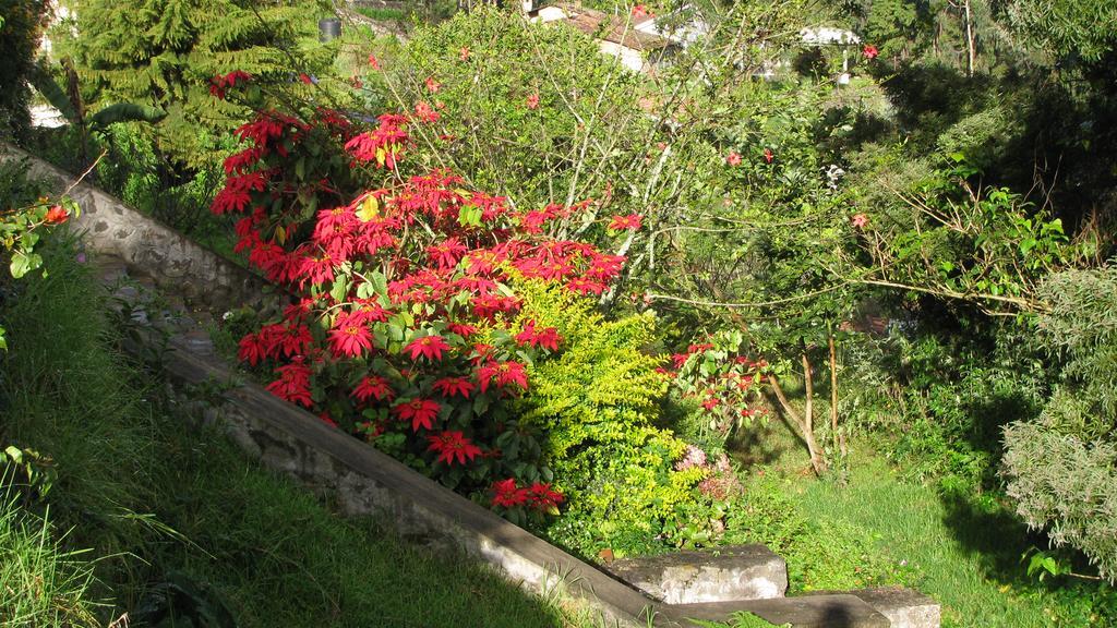
{"label": "shaded grassy slope on the near side of the sloping wall", "polygon": [[[57,581],[104,605],[93,608],[102,626],[182,579],[242,628],[590,625],[465,556],[341,518],[221,435],[188,428],[159,382],[115,349],[115,325],[73,248],[48,253],[49,276],[9,286],[16,296],[0,310],[11,346],[0,358],[0,449],[40,451],[58,479],[45,498],[0,502],[0,556],[38,565],[0,579]],[[69,532],[57,551],[32,555],[45,516],[55,539]],[[52,571],[74,549],[90,550],[68,560],[92,565],[97,582],[84,583],[80,569]],[[93,625],[71,598],[57,599],[82,612],[27,603],[39,615],[18,625]]]}

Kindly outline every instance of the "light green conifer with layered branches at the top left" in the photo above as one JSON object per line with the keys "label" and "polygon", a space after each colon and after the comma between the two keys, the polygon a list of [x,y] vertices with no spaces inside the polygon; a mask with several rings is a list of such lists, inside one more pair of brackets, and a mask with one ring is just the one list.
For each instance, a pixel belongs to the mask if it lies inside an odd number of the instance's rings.
{"label": "light green conifer with layered branches at the top left", "polygon": [[73,57],[86,97],[101,105],[134,102],[164,110],[156,145],[187,170],[212,162],[214,137],[247,115],[210,95],[211,77],[240,69],[260,80],[297,84],[300,73],[327,68],[332,59],[317,44],[324,7],[315,0],[70,4],[76,37],[59,48]]}

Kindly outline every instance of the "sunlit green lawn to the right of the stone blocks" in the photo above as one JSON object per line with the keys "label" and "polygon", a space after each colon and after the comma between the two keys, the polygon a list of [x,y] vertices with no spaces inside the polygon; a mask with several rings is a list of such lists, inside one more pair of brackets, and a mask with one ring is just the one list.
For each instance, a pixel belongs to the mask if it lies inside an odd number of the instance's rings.
{"label": "sunlit green lawn to the right of the stone blocks", "polygon": [[1110,625],[1114,610],[1102,612],[1100,605],[1113,603],[1113,589],[1095,594],[1092,583],[1027,575],[1021,555],[1041,539],[992,496],[944,494],[860,447],[844,483],[817,479],[805,447],[777,419],[746,445],[752,485],[775,482],[823,529],[859,531],[898,581],[942,603],[945,627]]}

